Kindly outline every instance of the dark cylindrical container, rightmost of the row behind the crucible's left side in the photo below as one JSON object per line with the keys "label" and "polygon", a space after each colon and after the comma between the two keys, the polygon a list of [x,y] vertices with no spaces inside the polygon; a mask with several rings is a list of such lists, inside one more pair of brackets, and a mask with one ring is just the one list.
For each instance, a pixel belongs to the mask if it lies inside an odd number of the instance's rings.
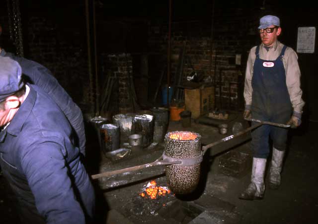
{"label": "dark cylindrical container, rightmost of the row behind the crucible's left side", "polygon": [[168,129],[169,115],[165,108],[153,108],[155,126],[154,126],[154,142],[163,142],[164,135]]}

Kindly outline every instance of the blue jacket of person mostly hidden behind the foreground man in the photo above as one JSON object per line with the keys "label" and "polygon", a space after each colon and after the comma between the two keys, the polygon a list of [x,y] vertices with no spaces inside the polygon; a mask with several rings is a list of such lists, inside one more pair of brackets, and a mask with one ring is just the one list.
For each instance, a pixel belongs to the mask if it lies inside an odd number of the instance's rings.
{"label": "blue jacket of person mostly hidden behind the foreground man", "polygon": [[52,75],[50,70],[35,61],[23,57],[14,56],[9,53],[6,53],[5,56],[9,56],[16,60],[20,64],[22,73],[26,76],[28,82],[43,89],[60,107],[77,134],[79,151],[81,154],[85,155],[86,138],[82,112],[69,94],[59,84],[57,79]]}

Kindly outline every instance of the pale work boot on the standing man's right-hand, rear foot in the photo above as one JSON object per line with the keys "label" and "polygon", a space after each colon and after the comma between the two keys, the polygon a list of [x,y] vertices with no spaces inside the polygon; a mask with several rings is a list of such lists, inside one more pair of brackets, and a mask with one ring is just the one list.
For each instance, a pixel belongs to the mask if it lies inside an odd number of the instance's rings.
{"label": "pale work boot on the standing man's right-hand, rear foot", "polygon": [[273,147],[272,161],[269,168],[269,188],[277,189],[281,183],[281,172],[285,151],[279,151]]}

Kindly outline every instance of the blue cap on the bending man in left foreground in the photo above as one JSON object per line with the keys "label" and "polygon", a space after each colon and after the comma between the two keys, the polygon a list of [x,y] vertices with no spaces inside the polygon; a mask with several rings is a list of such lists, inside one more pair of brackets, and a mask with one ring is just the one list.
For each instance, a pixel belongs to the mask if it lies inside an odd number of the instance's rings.
{"label": "blue cap on the bending man in left foreground", "polygon": [[0,102],[23,87],[21,75],[22,69],[18,62],[0,56]]}

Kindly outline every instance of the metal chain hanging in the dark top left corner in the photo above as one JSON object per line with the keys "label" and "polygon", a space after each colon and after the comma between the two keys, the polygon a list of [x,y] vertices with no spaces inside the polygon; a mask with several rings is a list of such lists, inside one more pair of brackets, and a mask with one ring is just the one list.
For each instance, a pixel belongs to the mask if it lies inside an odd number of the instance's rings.
{"label": "metal chain hanging in the dark top left corner", "polygon": [[19,0],[7,0],[10,39],[16,48],[16,54],[23,57],[23,37]]}

